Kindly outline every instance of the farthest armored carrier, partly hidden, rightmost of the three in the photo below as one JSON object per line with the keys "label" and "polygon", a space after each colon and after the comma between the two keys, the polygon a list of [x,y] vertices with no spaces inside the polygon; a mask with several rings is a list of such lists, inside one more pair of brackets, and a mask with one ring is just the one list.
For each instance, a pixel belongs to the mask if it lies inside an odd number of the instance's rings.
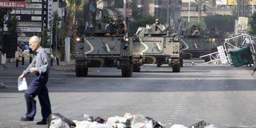
{"label": "farthest armored carrier, partly hidden, rightmost of the three", "polygon": [[[210,38],[199,30],[186,30],[181,37],[182,57],[184,59],[199,58],[211,53]],[[210,58],[204,58],[208,62]]]}

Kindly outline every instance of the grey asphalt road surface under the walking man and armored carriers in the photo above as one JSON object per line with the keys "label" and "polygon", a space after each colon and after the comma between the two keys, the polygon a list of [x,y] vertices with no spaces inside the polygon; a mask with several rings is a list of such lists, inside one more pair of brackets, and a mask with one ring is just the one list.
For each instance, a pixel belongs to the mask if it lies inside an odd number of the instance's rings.
{"label": "grey asphalt road surface under the walking man and armored carriers", "polygon": [[[0,82],[6,86],[0,89],[0,127],[47,127],[35,125],[41,119],[38,98],[35,121],[19,121],[26,109],[24,94],[16,85],[23,69],[0,69]],[[252,69],[186,64],[181,72],[173,73],[168,66],[147,65],[130,78],[121,77],[121,70],[113,68],[89,69],[88,77],[51,70],[48,89],[53,113],[72,120],[82,120],[82,114],[107,119],[132,113],[152,117],[166,127],[189,127],[201,120],[219,127],[256,127]],[[28,75],[27,81],[32,78],[33,74]]]}

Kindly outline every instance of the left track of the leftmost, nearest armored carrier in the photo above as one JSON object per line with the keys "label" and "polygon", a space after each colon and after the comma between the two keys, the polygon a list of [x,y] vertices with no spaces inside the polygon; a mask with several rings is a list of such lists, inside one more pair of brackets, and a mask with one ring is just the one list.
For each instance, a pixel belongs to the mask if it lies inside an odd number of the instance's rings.
{"label": "left track of the leftmost, nearest armored carrier", "polygon": [[75,61],[75,75],[77,77],[86,77],[88,74],[87,61]]}

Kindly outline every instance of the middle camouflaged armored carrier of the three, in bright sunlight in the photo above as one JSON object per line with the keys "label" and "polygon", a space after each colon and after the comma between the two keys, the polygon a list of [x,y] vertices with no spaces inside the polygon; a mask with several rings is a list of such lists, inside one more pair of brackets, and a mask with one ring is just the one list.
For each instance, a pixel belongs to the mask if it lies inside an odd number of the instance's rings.
{"label": "middle camouflaged armored carrier of the three, in bright sunlight", "polygon": [[180,72],[182,58],[180,38],[177,34],[168,35],[167,28],[162,25],[139,27],[134,35],[133,43],[134,72],[140,72],[143,64],[169,64],[173,72]]}

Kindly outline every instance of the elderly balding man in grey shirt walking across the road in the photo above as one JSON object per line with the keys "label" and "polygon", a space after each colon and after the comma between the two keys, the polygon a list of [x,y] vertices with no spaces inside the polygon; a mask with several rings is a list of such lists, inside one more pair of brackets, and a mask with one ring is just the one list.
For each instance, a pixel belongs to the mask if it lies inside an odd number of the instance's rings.
{"label": "elderly balding man in grey shirt walking across the road", "polygon": [[43,119],[40,122],[36,122],[36,124],[44,125],[46,124],[47,117],[51,114],[51,103],[49,101],[48,89],[46,87],[50,70],[50,61],[45,49],[40,46],[38,36],[32,36],[30,38],[29,47],[33,52],[36,52],[36,56],[27,69],[20,75],[19,79],[22,80],[25,75],[33,72],[35,73],[35,77],[28,86],[28,89],[25,91],[27,113],[25,116],[21,117],[20,120],[33,121],[36,114],[36,100],[34,100],[34,98],[35,96],[38,96]]}

